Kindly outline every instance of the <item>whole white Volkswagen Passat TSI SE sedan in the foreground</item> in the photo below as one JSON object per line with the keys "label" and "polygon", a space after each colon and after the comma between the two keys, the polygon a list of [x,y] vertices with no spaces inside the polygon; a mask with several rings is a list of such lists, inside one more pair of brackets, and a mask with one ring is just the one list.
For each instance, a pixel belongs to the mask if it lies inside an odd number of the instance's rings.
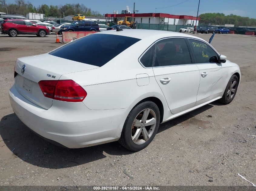
{"label": "whole white Volkswagen Passat TSI SE sedan in the foreground", "polygon": [[230,103],[241,73],[201,38],[138,29],[19,58],[14,76],[13,111],[48,141],[82,148],[118,140],[138,151],[160,123],[215,100]]}

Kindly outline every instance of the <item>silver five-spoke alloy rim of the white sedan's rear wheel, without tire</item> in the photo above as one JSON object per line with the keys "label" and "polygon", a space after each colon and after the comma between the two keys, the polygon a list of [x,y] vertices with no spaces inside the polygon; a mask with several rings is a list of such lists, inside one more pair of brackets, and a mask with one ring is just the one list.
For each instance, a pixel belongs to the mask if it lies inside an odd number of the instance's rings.
{"label": "silver five-spoke alloy rim of the white sedan's rear wheel, without tire", "polygon": [[134,119],[131,126],[131,139],[136,145],[148,141],[155,131],[156,114],[152,109],[142,110]]}

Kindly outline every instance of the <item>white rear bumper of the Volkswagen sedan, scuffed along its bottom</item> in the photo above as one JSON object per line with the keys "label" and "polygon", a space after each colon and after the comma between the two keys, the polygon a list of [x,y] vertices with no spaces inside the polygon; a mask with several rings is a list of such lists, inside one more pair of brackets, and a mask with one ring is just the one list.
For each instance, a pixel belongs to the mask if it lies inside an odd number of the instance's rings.
{"label": "white rear bumper of the Volkswagen sedan, scuffed along its bottom", "polygon": [[89,110],[83,102],[53,100],[45,110],[25,99],[15,86],[9,91],[17,117],[32,131],[68,148],[83,148],[120,138],[128,109]]}

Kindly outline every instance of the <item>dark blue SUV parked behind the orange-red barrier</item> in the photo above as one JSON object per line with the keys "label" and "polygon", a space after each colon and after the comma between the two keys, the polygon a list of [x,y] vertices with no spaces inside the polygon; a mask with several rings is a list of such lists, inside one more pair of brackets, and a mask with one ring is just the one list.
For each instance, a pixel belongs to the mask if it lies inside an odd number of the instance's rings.
{"label": "dark blue SUV parked behind the orange-red barrier", "polygon": [[77,31],[100,31],[99,25],[94,21],[75,21],[70,25],[60,27],[60,33],[62,32],[77,32]]}

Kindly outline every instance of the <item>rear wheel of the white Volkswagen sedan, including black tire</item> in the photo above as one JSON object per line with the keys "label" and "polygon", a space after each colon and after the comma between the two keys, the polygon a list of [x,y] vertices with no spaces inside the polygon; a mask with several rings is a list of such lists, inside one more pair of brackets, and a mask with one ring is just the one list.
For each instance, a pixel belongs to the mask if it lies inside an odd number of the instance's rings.
{"label": "rear wheel of the white Volkswagen sedan, including black tire", "polygon": [[[151,125],[147,125],[146,120]],[[128,114],[118,142],[128,150],[140,151],[154,139],[159,124],[160,111],[157,105],[152,101],[139,103]]]}

